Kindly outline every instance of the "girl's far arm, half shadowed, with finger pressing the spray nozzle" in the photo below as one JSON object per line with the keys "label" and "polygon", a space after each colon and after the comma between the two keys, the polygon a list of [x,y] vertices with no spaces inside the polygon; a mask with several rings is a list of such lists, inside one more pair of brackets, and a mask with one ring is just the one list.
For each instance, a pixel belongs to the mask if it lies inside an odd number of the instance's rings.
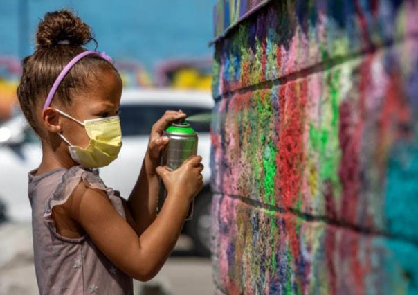
{"label": "girl's far arm, half shadowed, with finger pressing the spray nozzle", "polygon": [[161,134],[168,123],[184,117],[185,114],[181,111],[166,111],[152,126],[143,166],[128,199],[128,206],[134,217],[135,231],[138,235],[156,219],[159,188],[156,168],[159,166],[161,149],[168,143],[168,138],[161,137]]}

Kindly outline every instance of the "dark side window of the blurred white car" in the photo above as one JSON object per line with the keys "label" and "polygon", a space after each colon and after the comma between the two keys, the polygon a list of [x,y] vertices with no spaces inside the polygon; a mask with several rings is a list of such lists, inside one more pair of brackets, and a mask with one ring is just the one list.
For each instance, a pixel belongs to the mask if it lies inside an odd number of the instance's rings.
{"label": "dark side window of the blurred white car", "polygon": [[[210,112],[206,107],[185,107],[180,105],[121,105],[120,126],[122,136],[148,135],[152,125],[163,116],[167,109],[181,109],[188,116]],[[209,132],[210,123],[190,123],[196,132]]]}

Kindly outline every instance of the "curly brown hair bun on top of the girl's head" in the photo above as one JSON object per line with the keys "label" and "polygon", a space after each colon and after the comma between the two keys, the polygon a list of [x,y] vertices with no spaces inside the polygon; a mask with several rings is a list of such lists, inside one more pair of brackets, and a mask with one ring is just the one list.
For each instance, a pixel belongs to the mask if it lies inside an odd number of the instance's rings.
{"label": "curly brown hair bun on top of the girl's head", "polygon": [[46,13],[44,19],[39,22],[36,49],[62,44],[82,46],[91,39],[90,28],[80,17],[69,10],[58,10]]}

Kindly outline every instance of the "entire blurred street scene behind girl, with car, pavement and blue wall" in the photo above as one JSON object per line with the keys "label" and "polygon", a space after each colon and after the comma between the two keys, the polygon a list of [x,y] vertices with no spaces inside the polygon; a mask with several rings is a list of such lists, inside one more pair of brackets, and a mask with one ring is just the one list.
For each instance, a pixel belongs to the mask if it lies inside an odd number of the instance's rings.
{"label": "entire blurred street scene behind girl, with car, pavement and blue wall", "polygon": [[[20,61],[35,47],[37,24],[49,11],[78,12],[115,61],[122,76],[124,145],[118,160],[100,169],[104,183],[122,196],[134,186],[151,125],[165,109],[189,116],[212,109],[212,7],[215,0],[0,1],[0,295],[38,294],[33,267],[28,171],[41,160],[40,144],[26,124],[15,94]],[[93,44],[87,46],[93,49]],[[210,132],[199,132],[205,188],[195,202],[172,257],[136,294],[213,294],[209,224]]]}

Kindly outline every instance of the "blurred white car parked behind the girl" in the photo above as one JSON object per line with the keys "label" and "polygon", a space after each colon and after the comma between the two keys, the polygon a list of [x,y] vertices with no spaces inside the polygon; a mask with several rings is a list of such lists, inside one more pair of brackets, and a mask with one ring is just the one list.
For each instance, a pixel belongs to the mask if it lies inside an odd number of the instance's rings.
{"label": "blurred white car parked behind the girl", "polygon": [[[134,188],[147,150],[152,125],[167,109],[181,109],[188,116],[212,111],[214,102],[208,91],[177,89],[126,89],[120,100],[122,149],[118,159],[100,168],[104,184],[127,198]],[[187,119],[186,119],[187,120]],[[194,218],[185,223],[183,232],[194,240],[198,254],[209,253],[210,226],[210,132],[209,123],[191,123],[199,134],[198,154],[203,158],[205,186],[194,201]],[[28,201],[28,172],[39,166],[42,150],[23,115],[0,125],[0,202],[6,205],[11,220],[31,218]],[[1,216],[1,213],[0,213]]]}

